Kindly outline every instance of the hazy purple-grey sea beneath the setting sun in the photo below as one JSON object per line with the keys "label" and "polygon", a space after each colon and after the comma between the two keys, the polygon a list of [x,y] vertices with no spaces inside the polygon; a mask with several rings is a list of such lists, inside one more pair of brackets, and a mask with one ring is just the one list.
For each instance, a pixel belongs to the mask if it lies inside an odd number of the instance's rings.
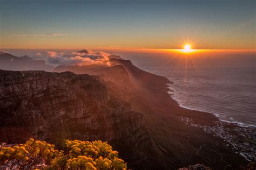
{"label": "hazy purple-grey sea beneath the setting sun", "polygon": [[[42,53],[35,58],[46,59],[47,50],[5,51],[32,57]],[[169,93],[182,107],[211,112],[222,121],[256,126],[255,51],[101,51],[121,55],[140,69],[167,77],[173,82]]]}

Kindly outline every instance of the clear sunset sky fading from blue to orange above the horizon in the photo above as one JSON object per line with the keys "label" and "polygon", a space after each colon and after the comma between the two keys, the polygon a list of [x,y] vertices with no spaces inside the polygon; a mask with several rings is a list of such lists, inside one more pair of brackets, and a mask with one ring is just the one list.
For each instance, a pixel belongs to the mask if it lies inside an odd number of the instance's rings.
{"label": "clear sunset sky fading from blue to orange above the horizon", "polygon": [[248,0],[0,0],[0,49],[255,49],[255,8]]}

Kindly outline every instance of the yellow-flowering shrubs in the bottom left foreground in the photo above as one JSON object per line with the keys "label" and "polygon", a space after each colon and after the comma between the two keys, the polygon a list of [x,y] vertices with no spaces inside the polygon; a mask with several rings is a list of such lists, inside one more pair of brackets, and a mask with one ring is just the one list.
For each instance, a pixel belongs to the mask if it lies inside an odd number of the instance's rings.
{"label": "yellow-flowering shrubs in the bottom left foreground", "polygon": [[66,140],[64,151],[55,145],[29,139],[0,150],[0,169],[126,169],[118,152],[102,141]]}

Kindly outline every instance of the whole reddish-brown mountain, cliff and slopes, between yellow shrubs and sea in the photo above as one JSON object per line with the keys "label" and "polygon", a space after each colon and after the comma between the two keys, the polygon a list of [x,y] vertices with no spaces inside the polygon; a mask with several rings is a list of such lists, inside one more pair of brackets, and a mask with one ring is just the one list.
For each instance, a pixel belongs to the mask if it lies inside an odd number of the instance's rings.
{"label": "whole reddish-brown mountain, cliff and slopes, between yellow shrubs and sea", "polygon": [[204,129],[217,117],[172,100],[165,77],[129,60],[110,61],[54,70],[63,73],[0,70],[0,141],[35,138],[62,147],[65,139],[107,140],[136,169],[238,169],[249,162]]}

